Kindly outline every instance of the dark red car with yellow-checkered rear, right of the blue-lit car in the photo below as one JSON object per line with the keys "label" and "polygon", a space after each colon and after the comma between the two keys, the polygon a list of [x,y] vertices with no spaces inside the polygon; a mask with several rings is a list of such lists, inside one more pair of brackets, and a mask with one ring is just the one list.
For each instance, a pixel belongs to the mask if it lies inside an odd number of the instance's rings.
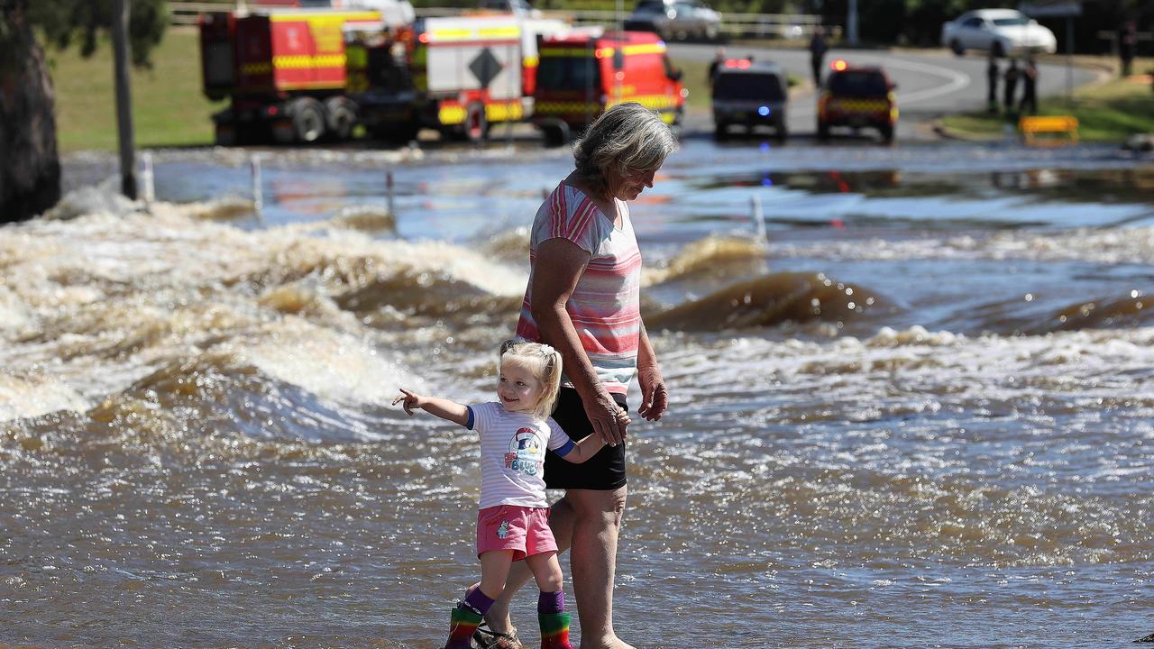
{"label": "dark red car with yellow-checkered rear, right of the blue-lit car", "polygon": [[832,72],[817,99],[817,137],[825,140],[835,126],[869,127],[876,128],[885,142],[893,142],[897,84],[878,67],[849,66],[842,60],[830,67]]}

